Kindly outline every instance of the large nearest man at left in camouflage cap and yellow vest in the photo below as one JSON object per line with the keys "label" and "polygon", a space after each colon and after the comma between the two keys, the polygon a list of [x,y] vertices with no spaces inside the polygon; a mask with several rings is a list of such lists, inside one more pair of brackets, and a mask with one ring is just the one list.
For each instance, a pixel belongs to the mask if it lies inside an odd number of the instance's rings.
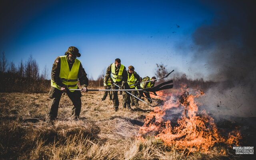
{"label": "large nearest man at left in camouflage cap and yellow vest", "polygon": [[[59,56],[54,61],[52,65],[51,89],[49,92],[49,98],[52,99],[52,102],[49,105],[46,122],[51,122],[57,118],[60,97],[63,92],[67,93],[74,105],[71,117],[74,120],[78,120],[81,111],[81,92],[88,92],[87,86],[89,82],[81,62],[76,59],[76,57],[80,56],[81,54],[78,49],[71,46],[65,52],[64,56]],[[78,80],[82,86],[82,91],[69,90],[78,88]]]}

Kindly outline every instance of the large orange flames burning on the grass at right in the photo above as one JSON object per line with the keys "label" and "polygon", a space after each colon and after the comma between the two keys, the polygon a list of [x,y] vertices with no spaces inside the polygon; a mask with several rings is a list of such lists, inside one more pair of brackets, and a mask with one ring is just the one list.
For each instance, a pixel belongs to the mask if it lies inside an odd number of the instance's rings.
{"label": "large orange flames burning on the grass at right", "polygon": [[[191,91],[191,90],[190,90]],[[158,93],[159,94],[159,93]],[[145,118],[144,126],[140,128],[139,137],[143,138],[153,134],[160,139],[166,146],[171,146],[180,151],[190,152],[209,152],[217,143],[228,145],[238,145],[241,139],[238,131],[231,132],[228,139],[223,138],[214,123],[213,118],[203,111],[198,113],[198,104],[195,98],[203,95],[203,92],[195,92],[194,95],[188,94],[188,88],[174,96],[164,104],[162,108],[154,108]],[[161,93],[162,96],[164,94]],[[176,101],[174,100],[176,97]],[[178,98],[177,98],[178,97]],[[178,99],[178,100],[177,100]],[[182,109],[182,114],[177,120],[171,122],[164,120],[166,112],[170,110]],[[220,153],[225,154],[222,150]]]}

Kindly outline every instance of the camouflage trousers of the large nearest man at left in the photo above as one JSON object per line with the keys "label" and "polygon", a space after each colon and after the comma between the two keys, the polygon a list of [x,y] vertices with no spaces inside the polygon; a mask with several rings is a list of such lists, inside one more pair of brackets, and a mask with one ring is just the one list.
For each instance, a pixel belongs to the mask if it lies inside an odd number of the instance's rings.
{"label": "camouflage trousers of the large nearest man at left", "polygon": [[[58,90],[55,87],[51,87],[49,92],[49,98],[52,99],[52,102],[49,104],[48,114],[46,116],[46,121],[55,120],[58,115],[58,108],[60,103],[60,98],[62,95],[62,91]],[[72,108],[72,115],[71,117],[75,120],[79,118],[80,112],[81,112],[81,92],[80,91],[74,91],[70,92],[67,91],[67,95],[72,101],[74,107]]]}

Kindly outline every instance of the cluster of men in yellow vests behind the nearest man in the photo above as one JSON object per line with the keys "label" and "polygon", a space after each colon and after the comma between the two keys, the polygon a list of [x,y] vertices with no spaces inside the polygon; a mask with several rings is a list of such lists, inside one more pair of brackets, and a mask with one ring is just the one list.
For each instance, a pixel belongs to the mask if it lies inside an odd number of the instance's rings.
{"label": "cluster of men in yellow vests behind the nearest man", "polygon": [[[104,78],[105,89],[118,90],[122,89],[145,89],[154,87],[156,77],[141,78],[137,72],[134,71],[133,66],[129,66],[128,70],[121,64],[119,58],[115,59],[115,62],[110,64],[106,70],[106,76]],[[150,81],[152,80],[152,81]],[[148,82],[147,82],[148,81]],[[110,100],[113,101],[114,109],[117,111],[119,106],[118,93],[116,91],[109,92]],[[155,93],[154,93],[155,94]],[[108,91],[105,91],[102,100],[106,99]],[[145,91],[126,91],[123,94],[123,107],[131,109],[132,105],[139,106],[138,98],[146,96],[149,103],[152,103],[149,92]]]}

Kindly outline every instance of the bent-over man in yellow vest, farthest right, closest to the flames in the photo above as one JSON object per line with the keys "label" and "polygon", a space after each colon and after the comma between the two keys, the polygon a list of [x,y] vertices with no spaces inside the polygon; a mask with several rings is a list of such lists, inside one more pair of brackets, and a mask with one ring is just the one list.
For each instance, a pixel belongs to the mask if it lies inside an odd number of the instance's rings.
{"label": "bent-over man in yellow vest, farthest right, closest to the flames", "polygon": [[[155,86],[155,82],[156,82],[155,79],[156,79],[155,76],[152,77],[152,78],[149,78],[148,76],[144,77],[144,78],[142,79],[142,83],[140,84],[140,88],[145,89],[145,88],[152,88],[152,87],[154,87],[154,86]],[[149,80],[152,80],[152,81],[146,82],[146,81],[149,81]],[[144,82],[145,82],[145,83],[144,83]],[[146,98],[151,99],[149,92],[142,92],[142,91],[141,91],[140,95],[143,96],[143,93],[144,93],[144,95],[146,96]],[[156,92],[154,92],[154,95],[157,96]],[[148,102],[149,102],[149,103],[152,103],[152,100],[149,100],[149,99],[148,99]]]}

